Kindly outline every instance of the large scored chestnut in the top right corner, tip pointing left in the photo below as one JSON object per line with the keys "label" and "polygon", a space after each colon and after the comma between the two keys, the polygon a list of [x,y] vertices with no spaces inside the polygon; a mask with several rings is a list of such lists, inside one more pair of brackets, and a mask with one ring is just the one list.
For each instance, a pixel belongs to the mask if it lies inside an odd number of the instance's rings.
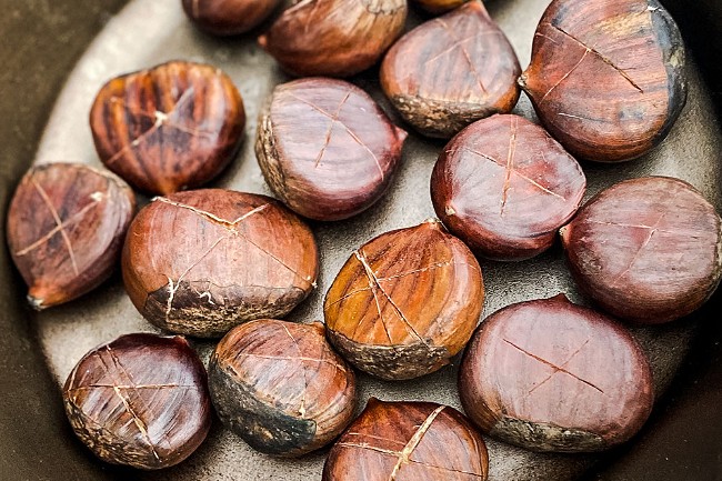
{"label": "large scored chestnut in the top right corner, tip pointing left", "polygon": [[578,158],[619,162],[668,134],[686,101],[684,43],[656,0],[554,0],[520,79]]}

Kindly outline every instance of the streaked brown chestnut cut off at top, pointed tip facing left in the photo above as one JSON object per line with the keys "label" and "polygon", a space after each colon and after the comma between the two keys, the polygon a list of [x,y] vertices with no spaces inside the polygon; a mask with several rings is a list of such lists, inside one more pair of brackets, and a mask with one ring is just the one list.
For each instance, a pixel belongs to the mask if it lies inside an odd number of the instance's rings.
{"label": "streaked brown chestnut cut off at top, pointed tip facing left", "polygon": [[299,77],[350,77],[401,34],[407,0],[303,0],[283,11],[259,44]]}

